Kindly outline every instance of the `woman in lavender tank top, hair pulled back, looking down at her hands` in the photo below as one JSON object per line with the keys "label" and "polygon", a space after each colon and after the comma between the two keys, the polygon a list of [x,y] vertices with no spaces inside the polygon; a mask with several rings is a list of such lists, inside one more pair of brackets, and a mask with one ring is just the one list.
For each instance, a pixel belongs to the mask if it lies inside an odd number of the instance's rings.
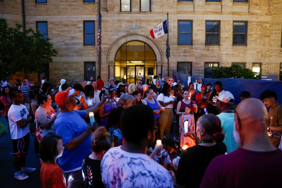
{"label": "woman in lavender tank top, hair pulled back, looking down at her hands", "polygon": [[157,101],[157,99],[154,98],[154,90],[153,89],[149,88],[145,91],[145,93],[146,93],[147,97],[144,98],[144,100],[142,102],[143,102],[144,105],[151,107],[153,112],[154,112],[155,123],[156,123],[156,126],[158,127],[158,130],[155,133],[155,135],[156,135],[155,140],[159,140],[159,139],[161,139],[160,129],[159,129],[159,117],[160,117],[159,112],[161,111],[160,109],[162,109],[162,105],[159,103],[159,101]]}

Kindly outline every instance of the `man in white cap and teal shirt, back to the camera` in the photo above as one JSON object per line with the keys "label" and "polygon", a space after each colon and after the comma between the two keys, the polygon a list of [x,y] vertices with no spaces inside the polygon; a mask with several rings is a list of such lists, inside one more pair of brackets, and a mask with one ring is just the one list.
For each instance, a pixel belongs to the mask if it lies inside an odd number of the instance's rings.
{"label": "man in white cap and teal shirt, back to the camera", "polygon": [[219,93],[217,99],[217,117],[221,121],[223,128],[222,133],[225,135],[223,143],[227,147],[227,153],[231,153],[238,149],[238,145],[233,136],[233,124],[234,124],[234,113],[232,105],[234,103],[234,97],[229,91],[222,91]]}

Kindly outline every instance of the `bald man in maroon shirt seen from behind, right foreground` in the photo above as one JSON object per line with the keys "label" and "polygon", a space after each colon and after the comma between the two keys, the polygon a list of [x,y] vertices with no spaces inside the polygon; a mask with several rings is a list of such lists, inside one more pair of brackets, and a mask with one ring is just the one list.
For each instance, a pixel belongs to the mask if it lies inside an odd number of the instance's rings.
{"label": "bald man in maroon shirt seen from behind, right foreground", "polygon": [[235,111],[233,133],[239,149],[214,158],[200,187],[281,187],[282,151],[270,142],[268,123],[259,99],[243,100]]}

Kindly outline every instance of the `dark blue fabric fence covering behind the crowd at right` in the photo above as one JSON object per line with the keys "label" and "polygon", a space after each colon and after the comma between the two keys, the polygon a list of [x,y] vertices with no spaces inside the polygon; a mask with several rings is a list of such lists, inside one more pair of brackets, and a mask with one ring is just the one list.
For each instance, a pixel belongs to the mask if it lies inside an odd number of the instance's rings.
{"label": "dark blue fabric fence covering behind the crowd at right", "polygon": [[[180,80],[181,84],[185,84],[185,86],[188,88],[188,76],[186,74],[178,73],[175,70],[173,70],[173,78],[175,79],[175,82],[177,80]],[[196,82],[196,79],[199,79],[200,77],[190,76],[191,82]],[[214,83],[216,81],[222,82],[222,87],[224,91],[230,91],[234,96],[234,104],[238,104],[241,102],[240,94],[241,91],[249,91],[251,93],[251,97],[258,98],[260,97],[260,94],[267,89],[275,91],[277,94],[277,101],[279,103],[282,103],[282,81],[267,81],[267,80],[252,80],[252,79],[241,79],[241,78],[221,78],[221,79],[212,79],[212,78],[201,78],[203,83],[202,85],[205,85],[207,82],[212,83],[212,89],[214,89]],[[195,89],[197,89],[196,86],[194,86]],[[198,91],[198,93],[200,93]]]}

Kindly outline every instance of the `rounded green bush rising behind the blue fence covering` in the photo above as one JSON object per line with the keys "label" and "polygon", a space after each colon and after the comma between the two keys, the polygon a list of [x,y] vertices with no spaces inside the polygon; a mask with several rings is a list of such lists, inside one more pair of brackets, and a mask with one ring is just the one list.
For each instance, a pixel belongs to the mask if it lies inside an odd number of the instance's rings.
{"label": "rounded green bush rising behind the blue fence covering", "polygon": [[230,67],[212,67],[212,78],[246,78],[260,79],[260,75],[250,69],[242,68],[240,65],[233,64]]}

